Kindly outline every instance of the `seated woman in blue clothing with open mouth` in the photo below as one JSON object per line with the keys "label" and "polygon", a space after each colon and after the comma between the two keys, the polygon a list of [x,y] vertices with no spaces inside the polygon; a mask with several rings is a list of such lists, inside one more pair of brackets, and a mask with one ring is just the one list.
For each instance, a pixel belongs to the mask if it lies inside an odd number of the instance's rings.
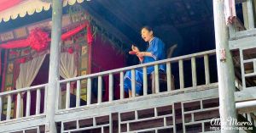
{"label": "seated woman in blue clothing with open mouth", "polygon": [[[141,30],[143,40],[148,42],[148,48],[145,52],[141,52],[137,47],[132,45],[131,49],[136,53],[142,64],[154,62],[156,60],[161,60],[166,58],[165,53],[165,43],[159,38],[154,37],[152,28],[144,26]],[[159,69],[166,71],[166,65],[160,64]],[[147,68],[147,74],[154,72],[154,66]],[[136,80],[136,95],[140,95],[143,85],[143,69],[135,70],[135,80]],[[124,77],[124,88],[125,91],[129,93],[131,97],[131,71],[127,71]]]}

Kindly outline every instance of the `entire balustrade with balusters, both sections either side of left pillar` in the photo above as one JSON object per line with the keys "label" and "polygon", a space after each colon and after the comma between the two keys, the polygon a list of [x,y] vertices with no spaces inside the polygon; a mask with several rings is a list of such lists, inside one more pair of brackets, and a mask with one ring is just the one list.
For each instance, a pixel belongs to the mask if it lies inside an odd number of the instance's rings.
{"label": "entire balustrade with balusters, both sections either side of left pillar", "polygon": [[[59,87],[57,88],[57,97],[56,97],[56,112],[63,109],[71,108],[71,104],[73,104],[72,107],[79,108],[83,105],[90,106],[90,104],[101,104],[104,102],[111,103],[114,100],[125,100],[125,99],[134,99],[137,97],[147,97],[148,95],[151,95],[152,93],[154,95],[167,92],[167,93],[176,93],[176,92],[184,92],[189,90],[197,90],[201,89],[204,86],[210,86],[213,83],[216,83],[217,80],[211,81],[210,80],[210,65],[209,65],[209,59],[215,58],[215,50],[210,50],[207,52],[202,53],[194,53],[189,54],[177,58],[168,58],[165,60],[156,61],[153,63],[148,64],[138,64],[131,67],[121,68],[121,69],[113,69],[108,70],[96,74],[91,75],[84,75],[80,77],[75,77],[72,79],[67,80],[59,80]],[[190,65],[187,65],[187,64]],[[201,67],[198,67],[199,65],[196,65],[197,63],[202,64]],[[211,64],[216,64],[216,62],[210,62]],[[160,72],[158,70],[154,70],[154,77],[151,77],[154,79],[154,85],[155,85],[155,91],[150,92],[150,88],[148,87],[148,81],[152,79],[148,79],[149,76],[147,75],[147,67],[154,66],[154,69],[159,69],[160,64],[166,65],[166,73],[164,75],[166,76],[166,80],[164,83],[160,82]],[[185,65],[184,65],[185,64]],[[136,69],[143,69],[143,94],[142,96],[136,96],[135,93],[135,70]],[[204,69],[204,70],[201,70]],[[124,91],[124,75],[125,72],[131,70],[132,77],[131,77],[131,84],[132,84],[132,96],[131,97],[125,97],[125,91]],[[190,71],[191,77],[188,78],[187,71]],[[203,79],[200,78],[200,80],[204,80],[204,83],[199,84],[198,79],[198,72],[204,71]],[[214,72],[214,75],[216,73]],[[103,99],[102,89],[103,89],[103,79],[108,77],[108,99]],[[114,77],[119,77],[119,82],[114,83]],[[172,81],[172,78],[174,77],[175,82]],[[96,88],[93,88],[92,86],[92,80],[96,78],[97,80],[97,86]],[[86,84],[84,84],[84,82]],[[190,82],[190,85],[187,84],[187,82]],[[119,84],[119,97],[113,98],[113,87],[114,85]],[[164,87],[162,87],[162,84],[165,84]],[[176,84],[177,86],[173,88],[173,84]],[[74,86],[75,85],[75,86]],[[86,85],[86,86],[84,86]],[[215,84],[214,84],[215,85]],[[61,87],[62,86],[62,87]],[[64,86],[64,87],[63,87]],[[83,90],[84,89],[84,90]],[[96,97],[92,95],[92,89],[96,89]],[[86,91],[87,97],[81,97],[81,91]],[[44,93],[44,97],[43,94]],[[64,95],[61,95],[64,94]],[[20,119],[20,118],[29,118],[32,116],[38,116],[38,115],[44,115],[46,110],[46,101],[47,101],[47,84],[40,85],[40,86],[31,86],[26,87],[22,89],[18,89],[15,91],[6,91],[0,93],[0,114],[3,116],[3,119],[0,121],[5,121],[9,119]],[[75,100],[71,99],[73,96],[75,96]],[[65,97],[65,98],[64,98]],[[61,106],[61,99],[63,100],[64,104]],[[82,104],[80,103],[81,99],[84,99],[86,103]],[[26,100],[26,102],[25,102]],[[32,100],[36,101],[36,105],[32,107]],[[75,102],[74,102],[75,101]],[[7,104],[6,110],[3,109],[3,103]],[[12,106],[13,104],[13,106]],[[26,106],[23,106],[23,104]],[[44,109],[42,109],[44,108]],[[31,110],[33,112],[31,113]],[[4,112],[4,113],[3,113]],[[12,113],[14,112],[14,113]]]}

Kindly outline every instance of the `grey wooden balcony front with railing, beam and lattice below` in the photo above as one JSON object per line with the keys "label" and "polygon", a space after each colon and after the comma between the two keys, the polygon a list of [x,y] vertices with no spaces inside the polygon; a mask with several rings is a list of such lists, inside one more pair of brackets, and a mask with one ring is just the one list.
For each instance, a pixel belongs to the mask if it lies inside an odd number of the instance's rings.
{"label": "grey wooden balcony front with railing, beam and lattice below", "polygon": [[[47,93],[48,89],[57,89],[58,92],[58,97],[54,101],[58,132],[213,132],[214,130],[209,129],[211,119],[219,117],[218,81],[211,79],[217,74],[216,72],[212,73],[212,71],[214,72],[212,66],[216,64],[214,58],[215,50],[211,50],[59,80],[59,88],[48,88],[46,84],[0,93],[0,104],[3,105],[3,99],[7,99],[8,103],[8,109],[3,110],[6,115],[0,122],[0,132],[47,130],[48,126],[45,126],[45,123],[47,124],[45,121],[47,97],[46,95],[44,98],[41,96],[42,93]],[[145,69],[148,66],[158,69],[159,64],[166,64],[166,83],[160,83],[159,71],[156,70],[154,71],[154,93],[150,92],[151,87],[143,87],[143,94],[135,96],[135,88],[133,88],[132,97],[125,97],[122,87],[125,71]],[[102,99],[102,78],[104,77],[109,79],[107,100]],[[119,97],[113,97],[113,77],[118,77],[121,80],[118,83],[120,85]],[[174,82],[171,80],[172,77],[174,77]],[[148,76],[144,75],[143,78],[143,85],[147,86],[149,79],[145,78]],[[93,79],[97,80],[97,86],[92,86]],[[132,80],[132,84],[135,84],[135,80]],[[162,86],[163,84],[165,86]],[[175,88],[172,87],[172,84],[175,84]],[[95,91],[93,89],[97,90],[96,93],[93,93]],[[84,90],[86,98],[80,97],[81,91]],[[32,91],[36,91],[37,94],[34,114],[30,113],[30,93]],[[236,94],[240,94],[240,92],[237,91]],[[25,97],[23,96],[26,96],[26,107],[21,106],[24,103]],[[237,101],[246,98],[236,95]],[[12,116],[10,104],[15,99],[15,110],[17,111]],[[248,114],[245,111],[240,113]],[[255,114],[253,112],[249,114],[253,116],[250,119],[255,121]]]}

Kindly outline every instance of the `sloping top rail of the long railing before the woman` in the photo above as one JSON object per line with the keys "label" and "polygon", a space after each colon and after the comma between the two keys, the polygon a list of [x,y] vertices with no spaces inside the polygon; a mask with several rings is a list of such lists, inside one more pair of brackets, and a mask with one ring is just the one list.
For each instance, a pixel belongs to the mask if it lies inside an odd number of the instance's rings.
{"label": "sloping top rail of the long railing before the woman", "polygon": [[164,64],[164,63],[167,63],[167,62],[177,62],[180,59],[188,60],[189,58],[192,58],[192,57],[200,58],[200,57],[203,57],[206,54],[207,55],[213,55],[214,53],[215,53],[215,49],[205,51],[205,52],[201,52],[201,53],[192,53],[192,54],[183,55],[183,56],[179,56],[179,57],[175,57],[175,58],[167,58],[167,59],[163,59],[163,60],[159,60],[159,61],[155,61],[155,62],[151,62],[151,63],[147,63],[147,64],[137,64],[137,65],[133,65],[133,66],[130,66],[130,67],[125,67],[125,68],[120,68],[120,69],[112,69],[112,70],[103,71],[103,72],[99,72],[99,73],[95,73],[95,74],[73,77],[73,78],[66,79],[66,80],[60,80],[60,83],[73,81],[73,80],[80,80],[80,79],[85,79],[85,78],[96,77],[96,76],[99,76],[99,75],[114,74],[114,73],[118,73],[120,71],[142,68],[142,67],[151,66],[151,65],[154,65],[154,64]]}

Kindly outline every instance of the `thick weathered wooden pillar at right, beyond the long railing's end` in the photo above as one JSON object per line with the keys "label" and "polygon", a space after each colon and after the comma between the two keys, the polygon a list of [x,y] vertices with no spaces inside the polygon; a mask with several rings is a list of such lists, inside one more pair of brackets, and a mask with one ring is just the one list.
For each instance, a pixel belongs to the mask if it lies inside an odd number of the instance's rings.
{"label": "thick weathered wooden pillar at right, beyond the long railing's end", "polygon": [[[219,93],[219,114],[221,121],[221,132],[236,133],[232,130],[236,126],[228,122],[236,119],[235,108],[235,73],[232,57],[229,49],[229,32],[225,23],[224,0],[213,1],[214,29],[216,41],[216,56],[218,67],[218,93]],[[230,130],[227,130],[230,129]]]}

